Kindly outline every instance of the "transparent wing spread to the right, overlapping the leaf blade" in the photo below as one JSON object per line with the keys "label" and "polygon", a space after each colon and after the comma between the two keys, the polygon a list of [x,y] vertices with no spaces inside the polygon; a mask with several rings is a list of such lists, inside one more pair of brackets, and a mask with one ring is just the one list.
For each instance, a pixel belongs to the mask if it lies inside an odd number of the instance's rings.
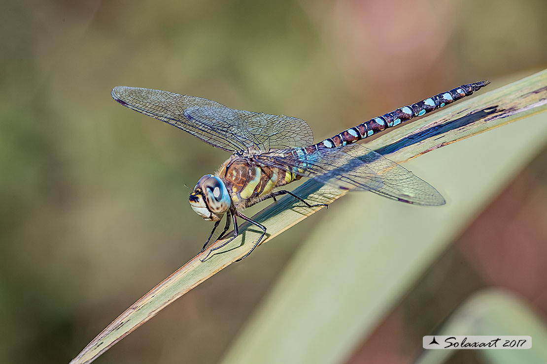
{"label": "transparent wing spread to the right, overlapping the leaf blade", "polygon": [[443,196],[429,183],[392,160],[358,144],[321,148],[310,153],[302,148],[262,153],[260,163],[340,189],[370,190],[379,195],[417,205],[443,205]]}

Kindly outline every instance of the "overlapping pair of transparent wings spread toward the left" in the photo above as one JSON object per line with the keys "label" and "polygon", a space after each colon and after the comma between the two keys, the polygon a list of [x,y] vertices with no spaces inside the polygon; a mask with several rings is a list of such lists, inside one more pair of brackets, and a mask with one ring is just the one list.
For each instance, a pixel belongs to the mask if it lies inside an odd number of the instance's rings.
{"label": "overlapping pair of transparent wings spread toward the left", "polygon": [[212,100],[148,88],[118,86],[112,97],[229,152],[312,144],[308,124],[288,116],[233,110]]}

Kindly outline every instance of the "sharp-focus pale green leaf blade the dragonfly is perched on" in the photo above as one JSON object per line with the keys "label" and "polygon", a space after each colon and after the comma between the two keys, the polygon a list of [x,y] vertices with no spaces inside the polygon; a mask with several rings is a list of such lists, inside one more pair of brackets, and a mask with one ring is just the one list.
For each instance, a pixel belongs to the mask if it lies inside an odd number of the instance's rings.
{"label": "sharp-focus pale green leaf blade the dragonfly is perched on", "polygon": [[[544,111],[547,108],[545,103],[547,99],[546,83],[547,71],[542,71],[482,96],[458,102],[451,105],[450,108],[380,136],[366,146],[382,153],[389,153],[387,157],[395,162],[404,162],[457,140]],[[510,99],[507,99],[508,97]],[[494,106],[495,112],[488,114],[485,111],[493,110]],[[473,115],[473,117],[466,122],[464,127],[446,128],[441,134],[431,134],[428,138],[422,138],[410,145],[397,145],[398,142],[405,139],[411,130],[414,130],[412,132],[414,134],[427,129],[433,130],[442,126],[444,122],[469,117],[469,115]],[[389,150],[390,146],[392,150]],[[313,181],[302,184],[294,190],[294,193],[306,198],[311,203],[327,204],[345,194],[345,192],[333,193],[333,190],[324,188]],[[266,207],[253,219],[267,227],[268,235],[263,241],[266,242],[318,210],[321,208],[308,209],[295,206],[294,200],[288,196],[278,200],[276,204]],[[204,256],[200,254],[179,268],[108,325],[71,363],[92,362],[120,339],[154,317],[161,309],[245,255],[249,246],[258,237],[259,231],[254,226],[243,224],[240,228],[240,235],[229,246],[219,250],[219,254],[212,255],[204,263],[199,261]],[[222,241],[219,241],[212,247],[221,243]],[[196,245],[198,244],[196,243]]]}

